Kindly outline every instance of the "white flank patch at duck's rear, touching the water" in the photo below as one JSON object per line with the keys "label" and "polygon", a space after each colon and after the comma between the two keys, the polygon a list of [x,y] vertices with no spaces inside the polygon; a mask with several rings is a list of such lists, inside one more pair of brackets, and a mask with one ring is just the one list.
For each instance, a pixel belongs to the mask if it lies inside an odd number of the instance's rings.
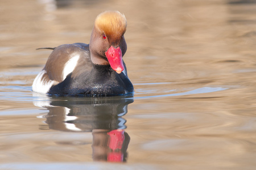
{"label": "white flank patch at duck's rear, touching the water", "polygon": [[47,94],[49,89],[52,87],[52,85],[55,83],[53,80],[49,80],[47,83],[43,83],[42,77],[46,73],[46,70],[42,70],[35,78],[33,84],[32,84],[32,91],[38,92],[40,94]]}

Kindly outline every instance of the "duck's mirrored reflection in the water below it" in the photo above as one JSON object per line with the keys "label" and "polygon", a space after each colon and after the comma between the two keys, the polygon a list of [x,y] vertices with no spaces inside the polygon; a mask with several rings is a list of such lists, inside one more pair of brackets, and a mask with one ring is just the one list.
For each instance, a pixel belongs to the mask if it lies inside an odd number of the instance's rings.
{"label": "duck's mirrored reflection in the water below it", "polygon": [[46,123],[50,129],[92,131],[93,160],[126,161],[130,137],[125,132],[126,120],[122,116],[127,113],[127,105],[133,103],[133,99],[105,97],[79,100],[70,97],[61,100],[43,105],[49,111]]}

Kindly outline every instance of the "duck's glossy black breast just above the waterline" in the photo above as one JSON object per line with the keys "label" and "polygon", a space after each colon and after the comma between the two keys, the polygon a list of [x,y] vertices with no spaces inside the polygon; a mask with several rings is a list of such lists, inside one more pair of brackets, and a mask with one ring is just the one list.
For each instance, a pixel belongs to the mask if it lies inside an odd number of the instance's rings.
{"label": "duck's glossy black breast just above the waterline", "polygon": [[93,65],[92,70],[72,76],[52,86],[49,95],[112,96],[133,93],[133,84],[126,74],[117,74],[110,66]]}

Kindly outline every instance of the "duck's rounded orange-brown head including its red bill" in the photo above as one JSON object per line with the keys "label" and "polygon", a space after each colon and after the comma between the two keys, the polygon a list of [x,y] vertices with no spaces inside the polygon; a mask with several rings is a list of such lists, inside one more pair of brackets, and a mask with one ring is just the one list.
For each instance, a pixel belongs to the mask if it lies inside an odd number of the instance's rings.
{"label": "duck's rounded orange-brown head including its red bill", "polygon": [[126,27],[125,15],[118,11],[102,12],[95,20],[90,39],[91,52],[107,58],[112,69],[118,74],[124,69],[122,56],[127,49],[123,36]]}

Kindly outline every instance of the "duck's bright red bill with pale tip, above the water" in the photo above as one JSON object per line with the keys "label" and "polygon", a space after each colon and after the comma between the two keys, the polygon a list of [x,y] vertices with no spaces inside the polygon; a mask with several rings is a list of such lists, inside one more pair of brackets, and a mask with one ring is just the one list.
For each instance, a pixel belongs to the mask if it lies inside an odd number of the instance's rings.
{"label": "duck's bright red bill with pale tip, above the water", "polygon": [[118,48],[110,46],[105,54],[112,69],[115,70],[118,74],[122,73],[125,67],[123,66],[122,51],[119,46]]}

